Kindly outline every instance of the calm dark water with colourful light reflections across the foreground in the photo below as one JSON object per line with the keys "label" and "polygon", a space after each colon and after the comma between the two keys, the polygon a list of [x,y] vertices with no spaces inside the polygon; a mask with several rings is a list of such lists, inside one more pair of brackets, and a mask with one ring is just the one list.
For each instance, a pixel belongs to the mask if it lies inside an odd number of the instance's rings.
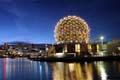
{"label": "calm dark water with colourful light reflections across the foreground", "polygon": [[0,80],[120,80],[120,62],[36,62],[1,58]]}

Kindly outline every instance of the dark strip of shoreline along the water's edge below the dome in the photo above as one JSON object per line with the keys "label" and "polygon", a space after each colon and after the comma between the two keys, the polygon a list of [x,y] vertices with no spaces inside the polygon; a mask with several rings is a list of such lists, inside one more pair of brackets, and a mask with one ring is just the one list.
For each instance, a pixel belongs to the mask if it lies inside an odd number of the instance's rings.
{"label": "dark strip of shoreline along the water's edge below the dome", "polygon": [[97,57],[41,57],[41,58],[30,58],[32,61],[41,62],[92,62],[92,61],[120,61],[120,56],[97,56]]}

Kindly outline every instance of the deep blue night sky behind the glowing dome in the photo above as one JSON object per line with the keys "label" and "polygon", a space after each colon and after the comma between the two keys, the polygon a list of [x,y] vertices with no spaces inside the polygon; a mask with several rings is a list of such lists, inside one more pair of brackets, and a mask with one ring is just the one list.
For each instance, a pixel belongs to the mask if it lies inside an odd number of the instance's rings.
{"label": "deep blue night sky behind the glowing dome", "polygon": [[0,0],[0,43],[54,43],[60,18],[77,15],[91,28],[91,39],[120,39],[120,0]]}

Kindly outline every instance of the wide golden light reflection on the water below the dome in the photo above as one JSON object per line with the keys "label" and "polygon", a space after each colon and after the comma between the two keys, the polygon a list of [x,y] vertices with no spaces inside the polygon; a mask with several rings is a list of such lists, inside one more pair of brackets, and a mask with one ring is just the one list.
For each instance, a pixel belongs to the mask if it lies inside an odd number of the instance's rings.
{"label": "wide golden light reflection on the water below the dome", "polygon": [[[62,68],[59,66],[63,66]],[[54,63],[54,80],[93,80],[92,64],[83,63]]]}

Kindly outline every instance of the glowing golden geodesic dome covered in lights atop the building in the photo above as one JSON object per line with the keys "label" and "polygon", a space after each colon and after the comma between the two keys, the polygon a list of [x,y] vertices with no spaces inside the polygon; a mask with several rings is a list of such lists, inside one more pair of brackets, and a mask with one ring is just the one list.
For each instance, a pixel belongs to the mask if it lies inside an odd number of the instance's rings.
{"label": "glowing golden geodesic dome covered in lights atop the building", "polygon": [[55,26],[54,37],[57,43],[88,42],[89,27],[87,23],[77,16],[67,16]]}

